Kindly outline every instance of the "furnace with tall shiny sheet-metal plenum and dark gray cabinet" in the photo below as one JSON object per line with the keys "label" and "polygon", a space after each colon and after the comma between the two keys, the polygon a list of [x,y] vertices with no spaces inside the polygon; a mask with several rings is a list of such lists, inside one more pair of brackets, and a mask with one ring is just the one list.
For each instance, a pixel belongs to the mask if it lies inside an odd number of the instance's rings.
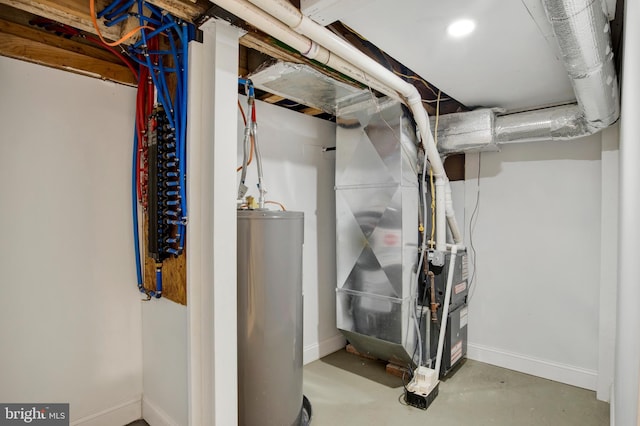
{"label": "furnace with tall shiny sheet-metal plenum and dark gray cabinet", "polygon": [[[431,209],[421,218],[415,124],[400,103],[373,98],[339,107],[337,124],[338,328],[360,353],[406,366],[417,360],[419,323],[422,362],[431,366],[451,255],[444,266],[429,264],[433,286],[426,273],[416,277],[419,223],[431,229]],[[460,249],[442,375],[466,356],[467,293],[466,253]]]}

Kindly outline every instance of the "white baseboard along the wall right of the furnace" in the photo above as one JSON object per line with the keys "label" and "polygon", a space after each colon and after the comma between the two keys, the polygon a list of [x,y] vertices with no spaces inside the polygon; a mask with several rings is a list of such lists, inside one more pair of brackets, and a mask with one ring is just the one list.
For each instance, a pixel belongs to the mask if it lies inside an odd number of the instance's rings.
{"label": "white baseboard along the wall right of the furnace", "polygon": [[475,343],[468,344],[467,357],[584,389],[596,390],[598,372],[572,365],[534,358]]}

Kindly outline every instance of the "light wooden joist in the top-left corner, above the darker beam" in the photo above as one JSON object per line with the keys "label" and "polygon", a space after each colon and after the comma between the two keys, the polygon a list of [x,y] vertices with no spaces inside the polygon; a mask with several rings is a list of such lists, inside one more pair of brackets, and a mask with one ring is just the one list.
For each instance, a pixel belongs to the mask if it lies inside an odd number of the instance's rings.
{"label": "light wooden joist in the top-left corner, above the darker beam", "polygon": [[[34,15],[53,19],[79,30],[96,33],[89,12],[88,0],[0,0],[0,3],[24,10]],[[105,0],[96,0],[96,9],[102,9]],[[100,32],[105,38],[117,40],[120,36],[118,26],[106,27],[101,23]]]}

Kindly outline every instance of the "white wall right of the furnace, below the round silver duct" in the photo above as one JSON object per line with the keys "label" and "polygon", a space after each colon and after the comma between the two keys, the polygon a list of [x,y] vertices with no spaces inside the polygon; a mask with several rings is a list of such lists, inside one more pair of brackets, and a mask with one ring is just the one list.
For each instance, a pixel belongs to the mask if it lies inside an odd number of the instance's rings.
{"label": "white wall right of the furnace, below the round silver duct", "polygon": [[601,137],[468,155],[469,357],[596,389]]}

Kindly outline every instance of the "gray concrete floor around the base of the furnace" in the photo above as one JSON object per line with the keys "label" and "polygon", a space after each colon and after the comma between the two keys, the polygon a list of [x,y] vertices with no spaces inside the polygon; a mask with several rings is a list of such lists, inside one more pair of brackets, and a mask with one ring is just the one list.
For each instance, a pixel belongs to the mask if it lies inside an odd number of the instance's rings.
{"label": "gray concrete floor around the base of the furnace", "polygon": [[467,360],[425,410],[404,404],[384,364],[338,351],[304,367],[312,426],[604,426],[595,392]]}

